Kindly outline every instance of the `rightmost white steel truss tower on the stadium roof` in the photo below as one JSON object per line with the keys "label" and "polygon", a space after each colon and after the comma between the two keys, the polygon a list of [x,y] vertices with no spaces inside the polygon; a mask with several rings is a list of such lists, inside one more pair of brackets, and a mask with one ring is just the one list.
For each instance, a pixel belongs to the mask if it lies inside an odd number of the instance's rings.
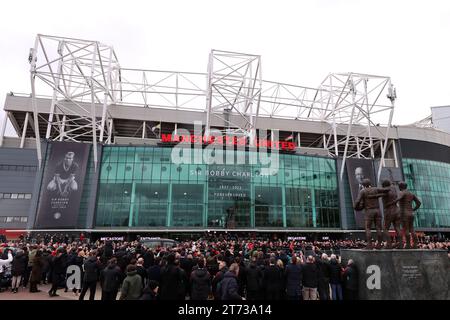
{"label": "rightmost white steel truss tower on the stadium roof", "polygon": [[324,147],[331,156],[342,157],[340,178],[347,158],[373,159],[378,147],[381,160],[378,181],[397,98],[391,79],[369,74],[333,73],[322,81],[319,89],[316,103],[320,103],[324,112],[323,120],[330,124],[329,134],[323,137]]}

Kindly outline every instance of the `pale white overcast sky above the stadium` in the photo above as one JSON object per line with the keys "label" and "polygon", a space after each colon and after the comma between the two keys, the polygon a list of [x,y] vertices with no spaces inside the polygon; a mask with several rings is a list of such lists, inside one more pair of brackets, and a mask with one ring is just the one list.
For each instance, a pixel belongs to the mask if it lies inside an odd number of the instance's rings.
{"label": "pale white overcast sky above the stadium", "polygon": [[260,54],[271,81],[316,87],[330,72],[390,76],[394,124],[450,104],[446,0],[15,0],[1,12],[2,106],[7,92],[31,91],[37,33],[113,45],[124,67],[206,72],[219,49]]}

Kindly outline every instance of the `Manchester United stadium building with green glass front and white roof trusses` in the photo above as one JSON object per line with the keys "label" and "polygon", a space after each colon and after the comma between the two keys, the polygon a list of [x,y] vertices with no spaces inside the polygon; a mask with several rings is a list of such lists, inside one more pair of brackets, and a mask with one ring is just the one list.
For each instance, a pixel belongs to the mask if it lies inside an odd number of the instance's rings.
{"label": "Manchester United stadium building with green glass front and white roof trusses", "polygon": [[[416,228],[450,232],[450,134],[393,126],[389,77],[262,80],[261,57],[207,73],[126,69],[97,41],[37,36],[31,94],[6,96],[0,229],[348,236],[363,177],[405,180]],[[17,137],[5,136],[6,121]]]}

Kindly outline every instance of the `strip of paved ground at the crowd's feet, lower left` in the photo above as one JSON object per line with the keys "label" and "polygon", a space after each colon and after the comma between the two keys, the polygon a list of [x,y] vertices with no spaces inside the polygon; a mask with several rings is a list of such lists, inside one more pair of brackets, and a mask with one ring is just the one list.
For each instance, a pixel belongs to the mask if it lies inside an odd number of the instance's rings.
{"label": "strip of paved ground at the crowd's feet, lower left", "polygon": [[[30,293],[29,289],[20,287],[19,292],[12,293],[11,289],[8,291],[0,292],[0,300],[78,300],[79,296],[75,296],[72,291],[64,292],[64,289],[59,289],[57,294],[59,297],[49,297],[48,291],[51,285],[41,285],[39,290],[41,292]],[[95,293],[95,300],[100,300],[101,290],[97,284],[97,291]],[[89,290],[84,297],[84,300],[89,299]]]}

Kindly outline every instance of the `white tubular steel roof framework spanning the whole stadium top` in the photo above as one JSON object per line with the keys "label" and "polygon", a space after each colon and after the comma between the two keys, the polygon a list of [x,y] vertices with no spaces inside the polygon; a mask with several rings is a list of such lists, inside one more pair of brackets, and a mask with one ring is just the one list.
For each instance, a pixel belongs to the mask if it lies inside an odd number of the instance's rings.
{"label": "white tubular steel roof framework spanning the whole stadium top", "polygon": [[[114,143],[114,119],[108,111],[113,104],[149,112],[205,112],[205,134],[217,118],[226,124],[226,134],[247,136],[250,142],[261,117],[326,123],[322,146],[329,156],[343,159],[341,178],[345,160],[353,157],[379,158],[379,178],[392,143],[388,137],[396,92],[386,76],[332,73],[317,88],[271,82],[262,79],[259,55],[220,50],[209,54],[207,73],[122,68],[111,46],[40,34],[29,60],[39,164],[39,123],[44,122],[46,139],[79,142],[88,137],[97,165],[96,145]],[[49,94],[48,89],[52,103],[49,117],[43,118],[36,99]],[[144,121],[143,137],[146,127]]]}

